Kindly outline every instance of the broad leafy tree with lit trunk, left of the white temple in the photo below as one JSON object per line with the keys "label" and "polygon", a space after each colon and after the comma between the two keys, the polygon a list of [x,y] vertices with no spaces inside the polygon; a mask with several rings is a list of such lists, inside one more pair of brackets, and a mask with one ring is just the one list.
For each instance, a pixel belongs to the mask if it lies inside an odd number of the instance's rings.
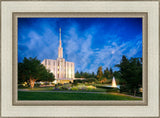
{"label": "broad leafy tree with lit trunk, left of the white temple", "polygon": [[41,64],[36,57],[25,57],[22,63],[18,64],[18,81],[29,81],[30,87],[34,88],[36,81],[53,81],[54,75]]}

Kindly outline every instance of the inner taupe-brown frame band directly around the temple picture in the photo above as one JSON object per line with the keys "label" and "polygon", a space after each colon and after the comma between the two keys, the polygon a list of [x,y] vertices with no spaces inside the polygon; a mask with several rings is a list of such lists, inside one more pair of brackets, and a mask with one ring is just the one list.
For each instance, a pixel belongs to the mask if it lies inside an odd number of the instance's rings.
{"label": "inner taupe-brown frame band directly around the temple picture", "polygon": [[[120,101],[120,100],[96,100],[96,101],[85,101],[85,100],[82,100],[82,101],[73,101],[73,100],[67,100],[67,101],[55,101],[55,100],[51,100],[51,101],[46,101],[46,100],[43,100],[43,101],[29,101],[29,100],[23,100],[23,101],[20,101],[18,100],[17,96],[18,96],[18,93],[17,93],[17,52],[18,52],[18,48],[17,48],[17,44],[18,44],[18,37],[17,37],[17,33],[18,33],[18,25],[17,25],[17,22],[18,22],[18,18],[32,18],[32,17],[52,17],[52,18],[78,18],[78,17],[81,17],[81,18],[116,18],[116,17],[119,17],[119,18],[136,18],[136,17],[139,17],[139,18],[142,18],[142,41],[143,41],[143,79],[142,79],[142,82],[143,82],[143,99],[142,101],[140,100],[133,100],[133,101]],[[35,106],[35,105],[43,105],[43,106],[53,106],[53,105],[58,105],[58,106],[67,106],[67,105],[80,105],[80,106],[84,106],[84,105],[87,105],[87,106],[139,106],[139,105],[143,105],[143,106],[146,106],[148,104],[148,90],[147,90],[147,81],[148,81],[148,77],[147,77],[147,70],[148,70],[148,61],[147,61],[147,56],[148,56],[148,52],[147,52],[147,45],[148,45],[148,42],[147,42],[147,27],[148,27],[148,24],[147,24],[147,20],[148,20],[148,15],[147,13],[140,13],[140,12],[135,12],[135,13],[127,13],[127,12],[124,12],[124,13],[82,13],[82,12],[77,12],[77,13],[73,13],[73,12],[70,12],[70,13],[39,13],[39,12],[35,12],[35,13],[23,13],[23,12],[19,12],[19,13],[16,13],[14,12],[12,14],[12,31],[13,31],[13,44],[12,44],[12,58],[13,58],[13,79],[12,79],[12,96],[13,96],[13,101],[12,101],[12,104],[14,106],[19,106],[19,105],[27,105],[27,106]],[[145,79],[144,79],[145,78]]]}

